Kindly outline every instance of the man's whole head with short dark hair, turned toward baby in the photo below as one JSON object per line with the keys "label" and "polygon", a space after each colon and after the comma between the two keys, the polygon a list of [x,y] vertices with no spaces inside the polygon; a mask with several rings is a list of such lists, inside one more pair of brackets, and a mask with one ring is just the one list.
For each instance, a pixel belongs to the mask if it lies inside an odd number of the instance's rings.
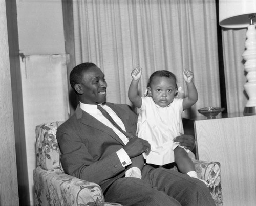
{"label": "man's whole head with short dark hair, turned toward baby", "polygon": [[94,63],[82,63],[70,73],[70,85],[85,104],[98,104],[106,101],[105,75]]}

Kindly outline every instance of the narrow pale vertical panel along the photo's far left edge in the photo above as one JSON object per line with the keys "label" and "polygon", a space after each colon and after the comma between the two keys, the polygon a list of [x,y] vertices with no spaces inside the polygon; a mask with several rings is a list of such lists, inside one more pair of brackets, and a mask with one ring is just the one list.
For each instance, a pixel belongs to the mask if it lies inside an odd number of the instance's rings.
{"label": "narrow pale vertical panel along the photo's far left edge", "polygon": [[18,205],[5,0],[0,0],[0,205]]}

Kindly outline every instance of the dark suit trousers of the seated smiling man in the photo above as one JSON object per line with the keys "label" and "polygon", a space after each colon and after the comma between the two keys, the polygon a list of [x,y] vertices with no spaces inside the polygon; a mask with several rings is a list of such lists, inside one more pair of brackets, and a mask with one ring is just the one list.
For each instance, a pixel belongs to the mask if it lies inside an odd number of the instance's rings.
{"label": "dark suit trousers of the seated smiling man", "polygon": [[105,191],[106,202],[128,205],[215,205],[206,185],[186,174],[144,166],[142,179],[122,177]]}

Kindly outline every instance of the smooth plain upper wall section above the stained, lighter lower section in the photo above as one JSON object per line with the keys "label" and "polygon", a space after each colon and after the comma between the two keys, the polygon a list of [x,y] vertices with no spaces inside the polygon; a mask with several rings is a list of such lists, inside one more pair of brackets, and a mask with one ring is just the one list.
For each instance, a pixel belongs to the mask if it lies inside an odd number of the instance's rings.
{"label": "smooth plain upper wall section above the stained, lighter lower section", "polygon": [[20,53],[65,53],[61,0],[17,0],[17,15]]}

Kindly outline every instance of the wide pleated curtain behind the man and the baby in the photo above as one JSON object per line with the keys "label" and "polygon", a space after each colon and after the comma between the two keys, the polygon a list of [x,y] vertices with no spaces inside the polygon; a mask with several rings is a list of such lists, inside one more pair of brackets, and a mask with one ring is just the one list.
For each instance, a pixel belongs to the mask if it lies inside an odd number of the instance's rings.
{"label": "wide pleated curtain behind the man and the baby", "polygon": [[109,102],[131,105],[131,71],[140,65],[140,95],[156,70],[173,72],[186,95],[188,68],[199,99],[187,112],[221,106],[215,0],[73,0],[73,10],[75,63],[103,70]]}

